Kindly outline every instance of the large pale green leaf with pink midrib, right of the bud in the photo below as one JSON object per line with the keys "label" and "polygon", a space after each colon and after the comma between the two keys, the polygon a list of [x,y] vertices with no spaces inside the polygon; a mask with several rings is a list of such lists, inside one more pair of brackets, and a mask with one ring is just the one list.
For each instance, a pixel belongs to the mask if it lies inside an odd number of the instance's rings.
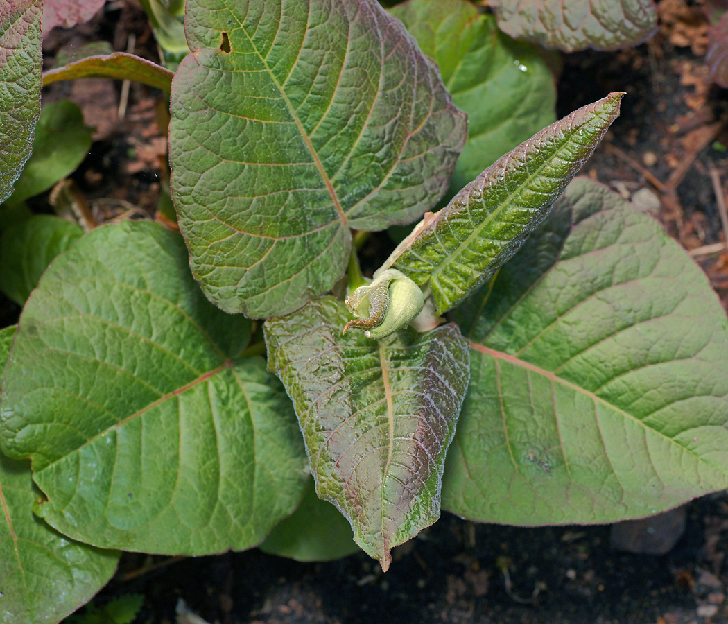
{"label": "large pale green leaf with pink midrib, right of the bud", "polygon": [[455,314],[471,377],[443,508],[614,522],[728,487],[728,319],[657,221],[574,181],[489,290]]}

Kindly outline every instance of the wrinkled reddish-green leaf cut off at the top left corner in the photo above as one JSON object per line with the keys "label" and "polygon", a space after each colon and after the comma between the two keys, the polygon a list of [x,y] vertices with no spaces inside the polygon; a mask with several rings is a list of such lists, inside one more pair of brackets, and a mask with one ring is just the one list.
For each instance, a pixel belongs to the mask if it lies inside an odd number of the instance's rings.
{"label": "wrinkled reddish-green leaf cut off at the top left corner", "polygon": [[4,0],[0,9],[0,203],[31,155],[41,110],[43,0]]}

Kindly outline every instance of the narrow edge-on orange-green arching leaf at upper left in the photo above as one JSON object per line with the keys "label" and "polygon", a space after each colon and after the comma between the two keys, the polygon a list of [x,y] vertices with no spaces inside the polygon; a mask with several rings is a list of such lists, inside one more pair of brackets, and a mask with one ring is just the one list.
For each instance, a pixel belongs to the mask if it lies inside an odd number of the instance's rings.
{"label": "narrow edge-on orange-green arching leaf at upper left", "polygon": [[43,74],[43,86],[76,78],[115,78],[135,80],[169,93],[173,76],[171,71],[151,60],[127,52],[114,52],[110,55],[89,56],[51,69]]}

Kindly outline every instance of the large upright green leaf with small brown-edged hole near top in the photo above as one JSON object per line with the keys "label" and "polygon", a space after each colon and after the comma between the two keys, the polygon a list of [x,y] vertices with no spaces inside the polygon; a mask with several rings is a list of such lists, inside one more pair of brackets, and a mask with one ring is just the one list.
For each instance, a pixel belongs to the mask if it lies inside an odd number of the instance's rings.
{"label": "large upright green leaf with small brown-edged hole near top", "polygon": [[228,312],[282,315],[346,269],[349,228],[446,191],[465,116],[375,0],[188,0],[172,189],[190,264]]}

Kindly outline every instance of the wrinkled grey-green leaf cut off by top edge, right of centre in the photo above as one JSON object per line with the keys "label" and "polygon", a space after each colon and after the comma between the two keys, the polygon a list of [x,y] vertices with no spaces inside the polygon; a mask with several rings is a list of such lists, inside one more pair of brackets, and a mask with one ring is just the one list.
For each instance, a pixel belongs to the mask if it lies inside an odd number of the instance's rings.
{"label": "wrinkled grey-green leaf cut off by top edge, right of centre", "polygon": [[618,50],[657,30],[653,0],[491,0],[490,6],[510,36],[565,52]]}

